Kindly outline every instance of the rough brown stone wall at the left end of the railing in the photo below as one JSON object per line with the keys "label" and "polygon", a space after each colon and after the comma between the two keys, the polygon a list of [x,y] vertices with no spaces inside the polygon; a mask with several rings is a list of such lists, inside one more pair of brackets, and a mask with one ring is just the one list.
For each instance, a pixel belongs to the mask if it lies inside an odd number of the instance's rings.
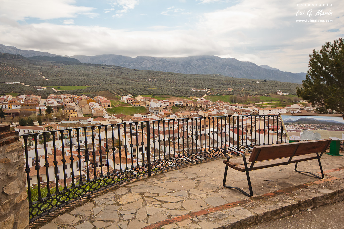
{"label": "rough brown stone wall at the left end of the railing", "polygon": [[29,228],[29,202],[19,132],[0,125],[0,229]]}

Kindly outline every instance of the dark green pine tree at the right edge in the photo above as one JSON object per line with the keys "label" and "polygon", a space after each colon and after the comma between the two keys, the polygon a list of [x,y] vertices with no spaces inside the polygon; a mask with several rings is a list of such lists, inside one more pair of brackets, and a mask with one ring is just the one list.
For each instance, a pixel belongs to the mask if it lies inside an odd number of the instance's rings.
{"label": "dark green pine tree at the right edge", "polygon": [[338,112],[344,114],[344,40],[339,38],[326,42],[320,51],[309,55],[310,69],[297,94],[308,100],[321,113]]}

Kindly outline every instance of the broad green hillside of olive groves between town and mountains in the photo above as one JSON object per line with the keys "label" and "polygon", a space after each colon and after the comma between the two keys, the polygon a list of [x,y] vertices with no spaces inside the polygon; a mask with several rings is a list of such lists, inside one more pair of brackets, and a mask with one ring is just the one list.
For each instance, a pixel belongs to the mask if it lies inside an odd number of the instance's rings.
{"label": "broad green hillside of olive groves between town and mountains", "polygon": [[[181,74],[162,71],[135,70],[119,66],[82,64],[78,62],[52,61],[48,58],[25,58],[20,55],[0,53],[0,92],[1,93],[56,93],[50,87],[69,87],[68,91],[57,93],[80,94],[109,91],[115,95],[161,95],[202,96],[205,92],[191,91],[192,88],[211,88],[211,94],[262,95],[276,93],[278,89],[296,93],[297,83],[240,79],[219,74]],[[63,60],[66,60],[62,58]],[[61,58],[57,58],[61,60]],[[68,60],[68,59],[67,59]],[[24,85],[9,85],[4,82],[21,82]],[[48,89],[35,91],[32,86]],[[227,91],[232,88],[233,91]],[[57,88],[58,89],[58,88]],[[33,92],[34,91],[34,92]]]}

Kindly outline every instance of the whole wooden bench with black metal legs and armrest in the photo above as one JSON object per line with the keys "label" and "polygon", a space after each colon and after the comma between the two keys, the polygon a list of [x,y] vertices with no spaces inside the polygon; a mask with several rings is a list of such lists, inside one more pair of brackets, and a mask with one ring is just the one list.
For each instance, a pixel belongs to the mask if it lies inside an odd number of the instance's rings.
{"label": "whole wooden bench with black metal legs and armrest", "polygon": [[[302,142],[292,142],[292,143],[283,143],[283,144],[274,144],[274,145],[264,145],[264,146],[255,146],[252,150],[251,156],[246,161],[245,154],[239,152],[232,148],[225,148],[224,154],[227,157],[227,160],[224,160],[223,163],[226,164],[225,174],[223,178],[223,186],[227,188],[235,188],[238,191],[242,192],[246,196],[252,196],[252,185],[250,181],[249,171],[270,168],[278,165],[287,165],[295,163],[295,172],[299,173],[309,173],[315,176],[316,178],[323,179],[324,173],[321,167],[320,158],[322,154],[329,147],[331,139],[323,140],[312,140],[312,141],[302,141]],[[240,154],[243,158],[234,159],[229,161],[229,156],[227,151],[234,151],[237,154]],[[297,166],[298,162],[308,161],[316,159],[319,162],[319,167],[321,171],[321,177],[315,175],[311,172],[298,171]],[[238,187],[232,187],[226,185],[227,171],[228,167],[238,170],[240,172],[246,172],[247,182],[250,194],[246,193]]]}

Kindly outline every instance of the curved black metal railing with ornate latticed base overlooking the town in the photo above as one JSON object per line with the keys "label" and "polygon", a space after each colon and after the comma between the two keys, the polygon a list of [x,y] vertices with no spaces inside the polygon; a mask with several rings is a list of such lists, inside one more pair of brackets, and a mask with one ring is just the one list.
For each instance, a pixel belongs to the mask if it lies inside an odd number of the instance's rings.
{"label": "curved black metal railing with ornate latticed base overlooking the town", "polygon": [[[21,135],[30,222],[109,186],[286,142],[278,116],[212,116],[83,126]],[[34,163],[39,161],[39,163]]]}

